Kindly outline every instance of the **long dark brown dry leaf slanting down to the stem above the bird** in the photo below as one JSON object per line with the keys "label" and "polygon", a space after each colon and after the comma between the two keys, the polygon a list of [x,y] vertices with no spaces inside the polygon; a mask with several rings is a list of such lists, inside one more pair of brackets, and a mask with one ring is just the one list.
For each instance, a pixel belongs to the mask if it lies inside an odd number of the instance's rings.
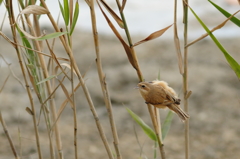
{"label": "long dark brown dry leaf slanting down to the stem above the bird", "polygon": [[[97,1],[98,3],[98,1]],[[113,33],[116,35],[116,37],[119,39],[119,41],[122,43],[125,52],[128,56],[128,60],[129,62],[132,64],[132,66],[136,69],[136,64],[135,61],[133,60],[133,56],[132,56],[132,49],[125,43],[125,41],[123,40],[123,38],[121,37],[121,35],[119,34],[119,32],[117,31],[117,29],[114,27],[114,25],[112,24],[112,22],[109,20],[109,18],[107,17],[107,15],[105,14],[105,12],[102,10],[102,7],[100,6],[100,4],[98,3],[98,6],[100,8],[100,10],[102,11],[105,19],[108,22],[108,25],[110,26],[110,28],[112,29]]]}

